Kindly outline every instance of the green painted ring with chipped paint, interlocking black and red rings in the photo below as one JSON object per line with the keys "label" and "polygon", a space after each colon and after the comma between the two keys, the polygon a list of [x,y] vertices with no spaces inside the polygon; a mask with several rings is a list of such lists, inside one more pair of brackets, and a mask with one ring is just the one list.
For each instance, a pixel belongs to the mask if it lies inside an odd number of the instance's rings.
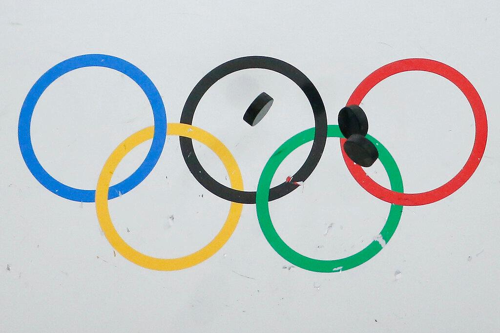
{"label": "green painted ring with chipped paint, interlocking black and red rings", "polygon": [[[338,125],[328,125],[328,132],[326,136],[343,137],[340,129],[338,128]],[[340,270],[347,270],[371,259],[382,249],[382,245],[377,240],[373,240],[359,252],[341,259],[320,260],[309,258],[291,249],[279,237],[276,230],[274,229],[274,226],[272,225],[271,217],[269,215],[269,187],[276,169],[278,168],[279,164],[281,164],[281,162],[286,158],[286,156],[288,156],[293,150],[306,142],[312,141],[313,138],[314,127],[293,135],[283,144],[281,144],[281,146],[277,148],[276,151],[274,151],[272,156],[265,164],[258,181],[257,194],[255,199],[258,222],[260,224],[260,228],[262,229],[262,233],[264,234],[265,238],[272,246],[272,248],[285,260],[289,261],[295,266],[318,272],[335,272]],[[378,158],[382,162],[382,165],[385,168],[387,175],[389,176],[390,188],[396,192],[403,192],[401,173],[399,172],[399,168],[397,167],[397,164],[390,153],[380,142],[378,142],[378,140],[376,140],[371,135],[367,134],[366,138],[373,142],[373,144],[375,144],[378,149]],[[399,219],[401,218],[402,209],[403,206],[401,205],[390,205],[387,221],[380,231],[380,235],[385,240],[385,242],[388,242],[390,237],[392,237],[392,235],[394,234],[397,224],[399,223]]]}

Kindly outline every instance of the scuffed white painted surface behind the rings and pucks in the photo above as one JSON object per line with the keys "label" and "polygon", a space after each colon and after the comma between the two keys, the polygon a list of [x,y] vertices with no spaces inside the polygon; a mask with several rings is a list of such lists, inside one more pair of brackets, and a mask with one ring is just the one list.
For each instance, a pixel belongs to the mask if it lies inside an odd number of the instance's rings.
{"label": "scuffed white painted surface behind the rings and pucks", "polygon": [[[2,0],[0,331],[498,331],[500,3],[374,2]],[[162,95],[169,121],[178,121],[194,84],[216,65],[244,55],[277,57],[312,80],[330,124],[371,71],[427,57],[456,68],[476,87],[488,116],[486,151],[462,188],[433,204],[404,207],[383,250],[340,274],[287,269],[263,237],[254,205],[244,206],[234,234],[208,260],[181,271],[153,271],[114,256],[94,204],[47,191],[19,152],[17,120],[29,88],[54,64],[84,53],[119,56],[142,69]],[[274,103],[250,127],[242,115],[262,91]],[[470,106],[437,75],[392,76],[362,106],[369,132],[394,156],[408,192],[444,183],[468,157]],[[291,81],[245,70],[207,92],[193,123],[224,142],[245,189],[254,190],[270,154],[311,127],[313,118]],[[31,133],[50,174],[95,188],[112,149],[151,124],[147,100],[130,79],[84,68],[49,86]],[[137,167],[148,144],[126,156],[114,181]],[[195,149],[210,174],[228,183],[215,155],[204,146]],[[308,149],[292,153],[273,183],[293,173]],[[369,174],[388,184],[379,162]],[[120,234],[138,250],[163,257],[208,242],[228,207],[189,173],[176,137],[168,138],[139,186],[110,202]],[[270,204],[283,239],[322,259],[363,248],[378,234],[388,207],[352,179],[337,139],[328,139],[303,191]]]}

